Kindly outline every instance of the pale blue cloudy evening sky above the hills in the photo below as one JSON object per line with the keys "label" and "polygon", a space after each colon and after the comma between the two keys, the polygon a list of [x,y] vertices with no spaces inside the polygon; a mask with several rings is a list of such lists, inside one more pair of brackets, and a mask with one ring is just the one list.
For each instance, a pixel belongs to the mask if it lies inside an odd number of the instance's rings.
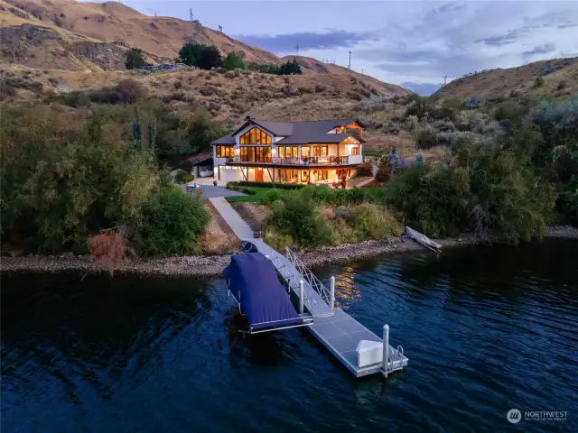
{"label": "pale blue cloudy evening sky above the hills", "polygon": [[[194,19],[279,56],[331,60],[422,95],[468,72],[578,56],[578,0],[150,1],[144,14]],[[447,77],[447,78],[445,78]]]}

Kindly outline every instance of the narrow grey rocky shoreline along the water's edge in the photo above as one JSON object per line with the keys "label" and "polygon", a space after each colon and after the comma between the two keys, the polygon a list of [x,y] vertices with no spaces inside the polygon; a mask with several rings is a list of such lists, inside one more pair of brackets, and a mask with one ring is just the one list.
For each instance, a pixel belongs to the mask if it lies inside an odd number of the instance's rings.
{"label": "narrow grey rocky shoreline along the water's edge", "polygon": [[[572,226],[548,227],[546,238],[578,239],[578,228]],[[435,239],[444,249],[477,244],[472,235],[461,235],[447,239]],[[354,259],[374,257],[383,254],[412,253],[426,251],[423,246],[402,238],[383,241],[364,241],[357,244],[340,244],[317,250],[302,251],[299,255],[308,266],[325,263],[339,263]],[[230,254],[212,256],[172,256],[160,259],[135,259],[126,261],[115,268],[114,275],[135,275],[142,277],[197,277],[207,278],[221,275],[228,265]],[[27,255],[2,257],[0,271],[14,272],[81,272],[107,273],[106,266],[90,260],[88,255]]]}

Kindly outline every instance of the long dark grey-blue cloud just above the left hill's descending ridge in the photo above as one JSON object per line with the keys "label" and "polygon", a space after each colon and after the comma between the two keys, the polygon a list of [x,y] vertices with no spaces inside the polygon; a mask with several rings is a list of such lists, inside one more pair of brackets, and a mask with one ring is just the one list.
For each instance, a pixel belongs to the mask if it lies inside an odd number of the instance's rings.
{"label": "long dark grey-blue cloud just above the left hill's descending ridge", "polygon": [[297,32],[277,35],[243,35],[235,36],[239,41],[255,45],[273,52],[294,52],[299,44],[300,50],[331,50],[350,48],[362,41],[376,41],[378,37],[372,32],[347,32],[344,30],[330,32]]}

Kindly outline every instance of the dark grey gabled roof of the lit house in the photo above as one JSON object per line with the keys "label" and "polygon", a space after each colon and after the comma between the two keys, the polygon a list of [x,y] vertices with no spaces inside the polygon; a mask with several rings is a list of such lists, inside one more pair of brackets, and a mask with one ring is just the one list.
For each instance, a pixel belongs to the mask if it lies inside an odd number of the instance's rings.
{"label": "dark grey gabled roof of the lit house", "polygon": [[[304,122],[271,122],[268,120],[249,119],[232,134],[219,138],[211,144],[235,144],[235,135],[245,129],[249,124],[255,124],[270,134],[285,137],[278,141],[280,144],[306,144],[306,143],[341,143],[352,134],[327,134],[337,126],[343,126],[357,122],[357,119],[328,119]],[[359,142],[364,140],[355,137]]]}

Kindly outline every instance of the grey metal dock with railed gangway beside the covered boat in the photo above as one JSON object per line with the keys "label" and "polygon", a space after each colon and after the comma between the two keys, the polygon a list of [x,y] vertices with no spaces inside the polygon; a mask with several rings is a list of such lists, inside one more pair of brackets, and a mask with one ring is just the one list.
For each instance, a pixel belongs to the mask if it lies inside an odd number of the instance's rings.
{"label": "grey metal dock with railed gangway beside the covered boat", "polygon": [[[387,325],[384,326],[383,337],[376,336],[345,311],[334,307],[334,277],[331,277],[331,289],[327,289],[289,248],[286,248],[283,255],[261,239],[248,238],[242,241],[255,245],[259,253],[265,254],[274,263],[290,290],[299,299],[300,313],[311,314],[313,323],[307,327],[309,331],[351,373],[357,377],[382,373],[387,377],[387,374],[401,370],[407,365],[408,359],[404,355],[404,349],[399,345],[397,348],[389,345]],[[361,341],[379,344],[378,352],[383,355],[379,355],[377,362],[359,366],[356,349]],[[383,359],[387,359],[387,363],[384,363]]]}

